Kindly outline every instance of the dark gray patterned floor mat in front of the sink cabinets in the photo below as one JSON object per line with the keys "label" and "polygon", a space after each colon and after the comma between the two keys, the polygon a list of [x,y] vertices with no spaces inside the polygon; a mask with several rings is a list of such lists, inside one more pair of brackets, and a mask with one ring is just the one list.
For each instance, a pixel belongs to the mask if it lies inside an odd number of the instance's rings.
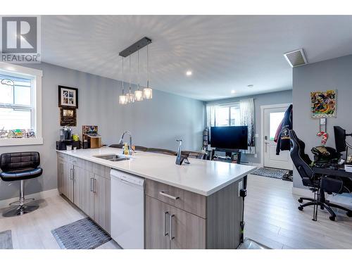
{"label": "dark gray patterned floor mat in front of the sink cabinets", "polygon": [[51,230],[61,249],[95,249],[111,237],[89,218]]}

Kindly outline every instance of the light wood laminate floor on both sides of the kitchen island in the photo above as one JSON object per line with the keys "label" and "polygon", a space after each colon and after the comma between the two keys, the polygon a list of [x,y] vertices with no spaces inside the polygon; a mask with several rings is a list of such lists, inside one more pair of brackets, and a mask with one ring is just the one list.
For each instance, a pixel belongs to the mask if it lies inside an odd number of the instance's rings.
{"label": "light wood laminate floor on both sides of the kitchen island", "polygon": [[[332,222],[325,211],[318,222],[313,208],[297,209],[292,182],[249,175],[245,205],[245,237],[272,249],[352,249],[352,218],[337,211]],[[0,210],[1,215],[1,210]],[[40,208],[16,218],[0,216],[0,232],[12,230],[15,249],[59,249],[51,230],[86,217],[61,196],[40,201]],[[119,249],[110,241],[99,249]]]}

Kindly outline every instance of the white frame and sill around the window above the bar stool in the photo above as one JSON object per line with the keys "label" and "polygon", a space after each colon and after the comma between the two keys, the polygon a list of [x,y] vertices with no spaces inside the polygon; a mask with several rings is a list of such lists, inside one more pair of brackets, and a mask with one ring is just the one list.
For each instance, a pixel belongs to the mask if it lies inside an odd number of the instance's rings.
{"label": "white frame and sill around the window above the bar stool", "polygon": [[27,68],[20,65],[0,62],[0,70],[8,75],[27,75],[33,80],[32,92],[34,98],[32,120],[35,137],[18,138],[18,139],[0,139],[0,146],[25,146],[43,144],[42,137],[42,77],[43,71],[33,68]]}

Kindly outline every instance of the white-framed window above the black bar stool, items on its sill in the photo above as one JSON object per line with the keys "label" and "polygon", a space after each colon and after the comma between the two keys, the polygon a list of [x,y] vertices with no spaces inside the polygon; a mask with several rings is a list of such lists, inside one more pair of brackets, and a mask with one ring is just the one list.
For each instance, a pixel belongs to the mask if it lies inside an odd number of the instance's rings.
{"label": "white-framed window above the black bar stool, items on its sill", "polygon": [[42,71],[0,63],[0,146],[42,144]]}

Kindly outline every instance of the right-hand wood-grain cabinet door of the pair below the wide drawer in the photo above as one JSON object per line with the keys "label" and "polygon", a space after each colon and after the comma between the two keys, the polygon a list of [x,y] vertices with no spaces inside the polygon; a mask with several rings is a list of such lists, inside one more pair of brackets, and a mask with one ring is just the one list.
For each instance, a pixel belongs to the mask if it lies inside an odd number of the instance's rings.
{"label": "right-hand wood-grain cabinet door of the pair below the wide drawer", "polygon": [[206,220],[170,206],[170,249],[206,249]]}

